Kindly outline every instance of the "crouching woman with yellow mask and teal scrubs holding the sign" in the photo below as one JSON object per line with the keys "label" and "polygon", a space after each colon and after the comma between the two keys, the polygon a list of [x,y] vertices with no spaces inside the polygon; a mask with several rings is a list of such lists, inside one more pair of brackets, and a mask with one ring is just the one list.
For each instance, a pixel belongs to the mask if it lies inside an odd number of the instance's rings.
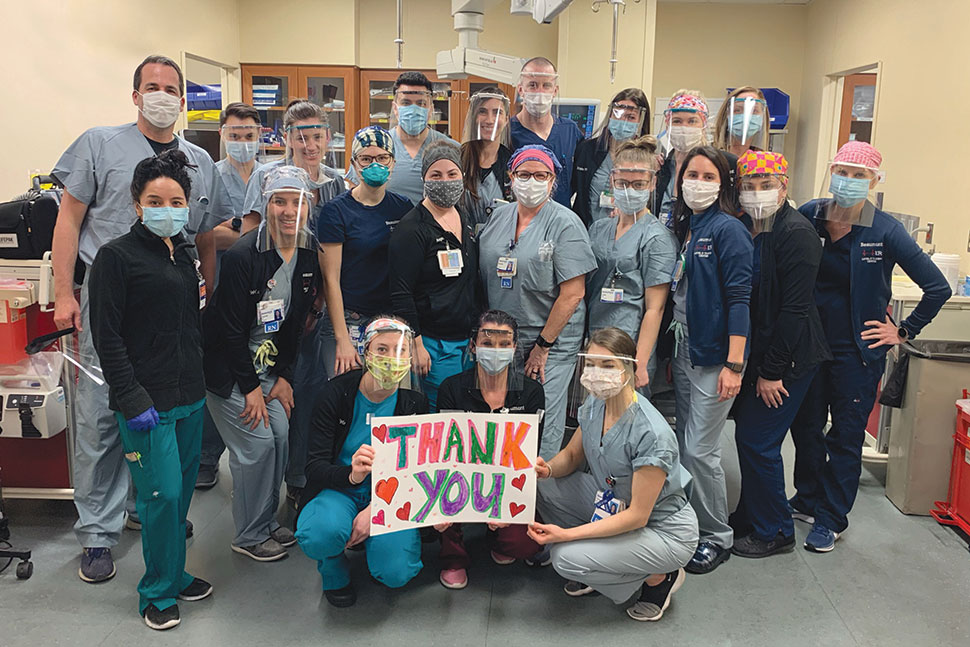
{"label": "crouching woman with yellow mask and teal scrubs holding the sign", "polygon": [[366,370],[335,377],[317,400],[296,529],[303,552],[317,560],[327,601],[336,607],[357,601],[345,548],[365,542],[371,575],[391,588],[407,584],[422,567],[416,529],[370,536],[369,421],[428,413],[424,395],[400,387],[409,376],[412,387],[418,384],[411,375],[413,334],[398,319],[378,317],[364,330],[363,342]]}

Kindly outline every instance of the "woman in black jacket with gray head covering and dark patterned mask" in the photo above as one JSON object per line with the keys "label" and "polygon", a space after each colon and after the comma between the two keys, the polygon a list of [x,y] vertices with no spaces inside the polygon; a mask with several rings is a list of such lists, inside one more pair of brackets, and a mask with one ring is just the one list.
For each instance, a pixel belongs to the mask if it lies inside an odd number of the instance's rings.
{"label": "woman in black jacket with gray head covering and dark patterned mask", "polygon": [[391,234],[391,307],[414,330],[415,369],[432,411],[438,387],[465,368],[468,331],[481,311],[478,242],[456,205],[465,193],[461,151],[448,142],[425,150],[424,200]]}

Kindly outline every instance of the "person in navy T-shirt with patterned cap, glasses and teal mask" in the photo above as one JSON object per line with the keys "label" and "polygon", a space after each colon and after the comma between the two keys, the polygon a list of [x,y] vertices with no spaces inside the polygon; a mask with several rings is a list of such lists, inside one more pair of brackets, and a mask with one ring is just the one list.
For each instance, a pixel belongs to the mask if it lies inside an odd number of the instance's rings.
{"label": "person in navy T-shirt with patterned cap, glasses and teal mask", "polygon": [[[351,163],[363,181],[324,205],[316,232],[323,250],[323,367],[330,378],[361,366],[358,344],[367,319],[391,302],[387,249],[391,232],[414,207],[387,190],[397,165],[391,134],[361,128],[351,144]],[[318,367],[319,368],[319,367]]]}

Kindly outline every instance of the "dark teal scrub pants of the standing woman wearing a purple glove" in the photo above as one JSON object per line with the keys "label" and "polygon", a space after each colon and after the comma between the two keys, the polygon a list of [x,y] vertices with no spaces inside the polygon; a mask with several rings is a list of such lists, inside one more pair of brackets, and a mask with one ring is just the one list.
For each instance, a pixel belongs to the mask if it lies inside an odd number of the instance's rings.
{"label": "dark teal scrub pants of the standing woman wearing a purple glove", "polygon": [[202,399],[160,411],[150,431],[129,429],[115,412],[142,524],[145,575],[138,583],[139,613],[149,604],[159,610],[172,606],[193,580],[185,572],[185,516],[199,472],[204,405]]}

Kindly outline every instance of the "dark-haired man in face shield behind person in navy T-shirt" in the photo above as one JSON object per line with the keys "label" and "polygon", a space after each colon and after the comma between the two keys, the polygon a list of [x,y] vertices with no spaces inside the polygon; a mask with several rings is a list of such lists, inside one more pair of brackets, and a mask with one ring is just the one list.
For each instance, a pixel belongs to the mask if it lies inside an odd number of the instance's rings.
{"label": "dark-haired man in face shield behind person in navy T-shirt", "polygon": [[[439,140],[458,142],[428,124],[434,111],[434,85],[421,72],[404,72],[394,82],[394,103],[391,141],[394,142],[394,168],[387,189],[403,195],[417,204],[424,199],[424,179],[421,175],[421,156],[425,149]],[[360,171],[351,166],[347,181],[360,184]]]}

